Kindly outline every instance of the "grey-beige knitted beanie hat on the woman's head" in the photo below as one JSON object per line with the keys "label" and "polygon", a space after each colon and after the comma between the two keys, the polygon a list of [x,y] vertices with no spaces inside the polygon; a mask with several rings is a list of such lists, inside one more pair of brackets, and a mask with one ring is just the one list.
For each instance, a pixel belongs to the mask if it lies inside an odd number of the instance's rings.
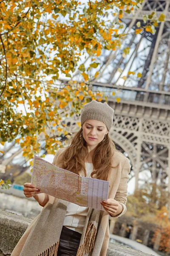
{"label": "grey-beige knitted beanie hat on the woman's head", "polygon": [[108,128],[108,131],[110,131],[113,125],[113,114],[113,108],[109,107],[106,102],[97,102],[93,99],[91,102],[85,104],[82,110],[81,126],[85,120],[93,119],[103,122]]}

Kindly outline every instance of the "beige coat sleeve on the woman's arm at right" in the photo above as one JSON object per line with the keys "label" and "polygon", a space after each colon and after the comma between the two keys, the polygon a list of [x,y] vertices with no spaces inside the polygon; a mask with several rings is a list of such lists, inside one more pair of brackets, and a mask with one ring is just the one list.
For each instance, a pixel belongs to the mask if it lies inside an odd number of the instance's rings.
{"label": "beige coat sleeve on the woman's arm at right", "polygon": [[119,183],[119,187],[117,189],[116,195],[115,195],[115,200],[119,202],[119,204],[122,205],[122,212],[119,213],[116,216],[111,216],[111,218],[118,218],[121,215],[123,215],[126,211],[126,202],[127,202],[127,180],[129,178],[129,173],[130,173],[130,163],[129,163],[129,159],[126,158],[125,163],[122,167],[122,172],[121,172],[121,179],[120,179],[120,183]]}

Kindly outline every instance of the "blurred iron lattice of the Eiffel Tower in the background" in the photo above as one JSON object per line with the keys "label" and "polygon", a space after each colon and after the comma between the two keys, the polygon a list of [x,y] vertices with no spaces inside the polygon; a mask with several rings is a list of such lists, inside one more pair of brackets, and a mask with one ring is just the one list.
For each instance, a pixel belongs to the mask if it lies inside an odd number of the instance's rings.
{"label": "blurred iron lattice of the Eiffel Tower in the background", "polygon": [[[165,21],[155,35],[146,31],[136,35],[136,23],[144,26],[143,16],[153,11],[157,17],[163,13]],[[103,50],[92,90],[104,91],[115,110],[110,136],[128,154],[135,189],[154,183],[170,192],[170,0],[144,0],[135,14],[124,15],[122,21],[129,35],[120,49],[109,54]],[[130,53],[123,58],[125,47],[130,47]],[[122,74],[128,71],[142,77],[123,80]],[[119,103],[113,91],[121,98]]]}

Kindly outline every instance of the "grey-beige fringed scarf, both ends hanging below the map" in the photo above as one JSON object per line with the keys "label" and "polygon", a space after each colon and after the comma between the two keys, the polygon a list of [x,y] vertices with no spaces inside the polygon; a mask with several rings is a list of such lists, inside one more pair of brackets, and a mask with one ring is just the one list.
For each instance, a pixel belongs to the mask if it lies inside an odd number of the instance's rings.
{"label": "grey-beige fringed scarf, both ends hanging below the map", "polygon": [[[49,196],[48,203],[43,207],[42,212],[28,226],[11,256],[57,256],[59,238],[67,206],[67,201]],[[97,256],[100,254],[100,248],[102,246],[101,241],[105,235],[105,231],[100,227],[103,213],[104,211],[89,208],[77,256]],[[99,244],[96,244],[98,253],[94,254],[93,249],[97,237],[96,234],[97,236],[102,235],[102,239],[97,239],[99,240]],[[17,254],[17,247],[21,245],[23,247],[20,248],[20,253]]]}

